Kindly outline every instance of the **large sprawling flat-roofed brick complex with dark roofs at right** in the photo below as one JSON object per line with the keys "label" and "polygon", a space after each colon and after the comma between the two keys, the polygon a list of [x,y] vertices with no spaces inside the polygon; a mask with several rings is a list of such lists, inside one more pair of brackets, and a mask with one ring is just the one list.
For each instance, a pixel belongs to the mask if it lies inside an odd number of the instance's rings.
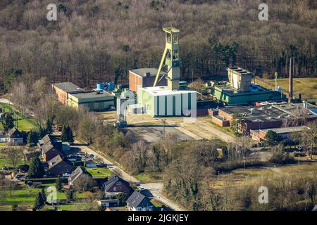
{"label": "large sprawling flat-roofed brick complex with dark roofs at right", "polygon": [[[302,110],[304,109],[304,110]],[[297,115],[296,111],[302,110]],[[239,120],[242,134],[250,130],[302,125],[317,120],[317,107],[308,103],[269,103],[261,106],[228,106],[210,110],[211,120],[219,126],[228,127],[232,120]]]}

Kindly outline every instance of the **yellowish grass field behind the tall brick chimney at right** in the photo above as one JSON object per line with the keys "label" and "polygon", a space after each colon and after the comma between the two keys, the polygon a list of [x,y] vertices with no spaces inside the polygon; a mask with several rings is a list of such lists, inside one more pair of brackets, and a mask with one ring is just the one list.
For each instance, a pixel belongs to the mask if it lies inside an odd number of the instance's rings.
{"label": "yellowish grass field behind the tall brick chimney at right", "polygon": [[[261,82],[260,84],[264,87],[271,89],[275,87],[275,79],[263,79],[265,82],[271,84],[271,86]],[[282,90],[288,91],[289,79],[282,78],[278,79],[278,86],[282,87]],[[302,94],[302,99],[306,101],[317,101],[317,78],[294,78],[293,80],[293,91],[294,96],[298,96],[299,93]]]}

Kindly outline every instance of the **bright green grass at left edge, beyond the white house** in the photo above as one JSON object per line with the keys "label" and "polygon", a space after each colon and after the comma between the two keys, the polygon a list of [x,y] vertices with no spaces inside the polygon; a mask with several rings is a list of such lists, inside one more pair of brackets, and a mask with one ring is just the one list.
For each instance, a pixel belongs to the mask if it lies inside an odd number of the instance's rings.
{"label": "bright green grass at left edge, beyond the white house", "polygon": [[[18,127],[18,130],[20,131],[30,131],[31,129],[34,129],[38,126],[37,122],[35,120],[32,120],[31,118],[23,117],[18,113],[18,110],[13,107],[12,105],[8,105],[6,103],[0,103],[0,108],[4,110],[5,112],[15,112],[17,116],[17,120],[15,121],[15,126]],[[4,129],[2,123],[0,123],[0,129]]]}

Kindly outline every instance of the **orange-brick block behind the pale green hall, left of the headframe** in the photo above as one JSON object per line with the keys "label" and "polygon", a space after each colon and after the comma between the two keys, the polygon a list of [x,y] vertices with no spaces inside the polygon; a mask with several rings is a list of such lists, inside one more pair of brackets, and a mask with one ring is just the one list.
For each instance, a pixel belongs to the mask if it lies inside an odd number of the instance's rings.
{"label": "orange-brick block behind the pale green hall, left of the headframe", "polygon": [[[129,89],[137,93],[139,87],[153,86],[157,73],[157,68],[140,68],[129,70]],[[161,72],[158,86],[166,86],[166,77],[163,77],[164,72]]]}

